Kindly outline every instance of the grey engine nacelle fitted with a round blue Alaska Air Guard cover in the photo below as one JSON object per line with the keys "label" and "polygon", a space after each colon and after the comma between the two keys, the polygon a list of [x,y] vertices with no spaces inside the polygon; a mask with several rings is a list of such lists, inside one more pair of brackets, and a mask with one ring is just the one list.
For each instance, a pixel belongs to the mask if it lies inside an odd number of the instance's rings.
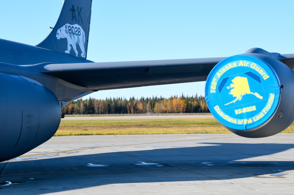
{"label": "grey engine nacelle fitted with a round blue Alaska Air Guard cover", "polygon": [[294,73],[263,54],[241,54],[220,61],[209,74],[209,110],[231,132],[248,138],[272,136],[294,120]]}

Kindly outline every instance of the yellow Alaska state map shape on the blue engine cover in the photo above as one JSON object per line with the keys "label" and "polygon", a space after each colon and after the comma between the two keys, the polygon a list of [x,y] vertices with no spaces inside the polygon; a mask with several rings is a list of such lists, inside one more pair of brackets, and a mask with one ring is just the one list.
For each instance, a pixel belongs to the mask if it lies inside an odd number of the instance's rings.
{"label": "yellow Alaska state map shape on the blue engine cover", "polygon": [[233,97],[236,97],[235,100],[225,104],[228,105],[230,103],[235,103],[237,100],[241,100],[243,95],[246,94],[253,94],[255,95],[257,98],[262,99],[263,97],[260,96],[258,93],[252,93],[250,91],[249,88],[249,84],[248,84],[248,80],[246,77],[240,77],[240,76],[236,76],[233,80],[232,80],[233,84],[230,84],[230,86],[227,87],[227,89],[231,89],[230,91],[230,95],[233,95]]}

